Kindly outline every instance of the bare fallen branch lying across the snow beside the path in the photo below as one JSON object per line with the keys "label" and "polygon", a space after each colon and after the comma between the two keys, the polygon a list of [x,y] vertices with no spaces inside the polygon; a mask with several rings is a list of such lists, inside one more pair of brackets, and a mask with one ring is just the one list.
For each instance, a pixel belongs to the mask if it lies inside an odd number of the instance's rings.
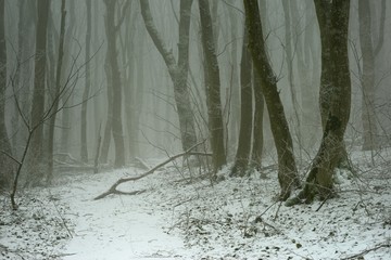
{"label": "bare fallen branch lying across the snow beside the path", "polygon": [[101,198],[104,198],[105,196],[110,195],[110,194],[125,194],[125,195],[135,195],[135,194],[139,194],[139,193],[142,193],[142,192],[146,192],[146,190],[143,191],[136,191],[136,192],[130,192],[130,193],[127,193],[127,192],[122,192],[122,191],[118,191],[116,190],[117,186],[124,182],[129,182],[129,181],[137,181],[137,180],[140,180],[144,177],[148,177],[150,174],[152,174],[155,170],[157,170],[159,168],[165,166],[166,164],[179,158],[179,157],[182,157],[182,156],[188,156],[188,155],[198,155],[198,156],[212,156],[212,154],[207,154],[207,153],[200,153],[200,152],[190,152],[191,150],[193,150],[195,146],[198,146],[199,144],[190,147],[188,151],[181,153],[181,154],[177,154],[177,155],[174,155],[172,157],[169,157],[168,159],[166,159],[165,161],[156,165],[155,167],[153,167],[152,169],[150,169],[149,171],[147,171],[146,173],[141,174],[141,176],[138,176],[138,177],[129,177],[129,178],[121,178],[119,180],[117,180],[110,188],[109,191],[102,193],[101,195],[97,196],[96,198],[93,198],[94,200],[98,200],[98,199],[101,199]]}

